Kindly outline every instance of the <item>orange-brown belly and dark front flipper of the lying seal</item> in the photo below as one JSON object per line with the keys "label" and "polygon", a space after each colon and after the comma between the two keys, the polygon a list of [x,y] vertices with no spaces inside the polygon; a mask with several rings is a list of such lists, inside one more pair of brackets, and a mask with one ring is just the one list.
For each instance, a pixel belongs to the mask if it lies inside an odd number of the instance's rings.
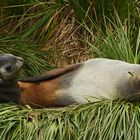
{"label": "orange-brown belly and dark front flipper of the lying seal", "polygon": [[61,77],[64,74],[70,73],[79,69],[81,64],[67,66],[63,69],[56,69],[45,74],[27,79],[26,82],[18,82],[21,88],[20,102],[28,104],[31,107],[51,107],[59,106],[60,95],[56,92],[60,88],[60,83],[63,81]]}

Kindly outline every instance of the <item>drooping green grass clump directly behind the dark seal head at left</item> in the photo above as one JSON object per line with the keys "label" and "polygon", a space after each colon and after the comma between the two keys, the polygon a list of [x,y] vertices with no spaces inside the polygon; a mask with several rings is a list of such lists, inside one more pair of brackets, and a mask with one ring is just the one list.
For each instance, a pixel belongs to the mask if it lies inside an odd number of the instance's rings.
{"label": "drooping green grass clump directly behind the dark seal head at left", "polygon": [[47,51],[41,51],[37,45],[28,43],[21,38],[0,38],[0,53],[12,53],[24,58],[24,65],[19,74],[20,78],[34,76],[55,67],[45,61],[48,57]]}

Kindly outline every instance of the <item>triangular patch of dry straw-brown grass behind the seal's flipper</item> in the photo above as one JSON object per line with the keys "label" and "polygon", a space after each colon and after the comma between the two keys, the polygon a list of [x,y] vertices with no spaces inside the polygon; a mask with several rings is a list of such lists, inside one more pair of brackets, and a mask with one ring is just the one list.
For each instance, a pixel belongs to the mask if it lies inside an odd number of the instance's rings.
{"label": "triangular patch of dry straw-brown grass behind the seal's flipper", "polygon": [[[59,26],[55,28],[50,40],[43,45],[44,50],[48,50],[47,61],[62,67],[68,64],[77,63],[92,57],[89,54],[88,44],[82,43],[79,27],[73,16],[73,11],[65,19],[61,20]],[[54,20],[57,20],[54,19]],[[45,47],[44,47],[45,46]]]}

